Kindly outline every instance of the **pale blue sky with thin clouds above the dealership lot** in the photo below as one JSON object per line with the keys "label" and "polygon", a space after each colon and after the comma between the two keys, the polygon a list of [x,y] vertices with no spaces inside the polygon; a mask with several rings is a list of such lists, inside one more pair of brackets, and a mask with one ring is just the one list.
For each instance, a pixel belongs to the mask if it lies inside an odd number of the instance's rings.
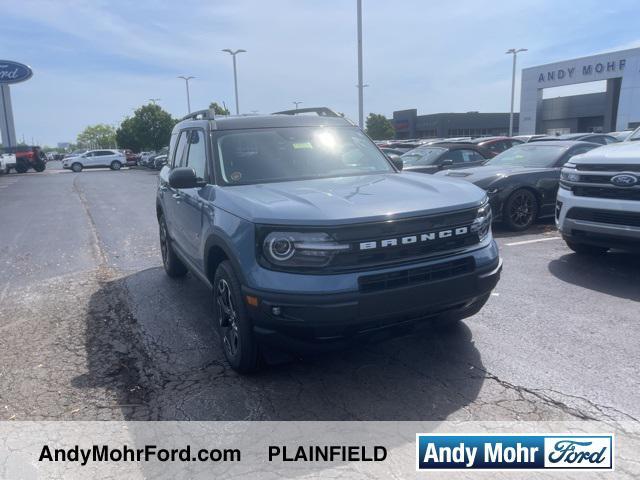
{"label": "pale blue sky with thin clouds above the dealership lot", "polygon": [[[151,98],[185,115],[178,75],[196,77],[192,110],[234,110],[225,48],[247,50],[237,57],[241,113],[301,101],[357,120],[356,0],[0,0],[0,12],[0,59],[34,71],[11,87],[27,143],[117,126]],[[638,12],[637,0],[363,0],[365,116],[507,112],[508,48],[528,48],[519,70],[637,47]]]}

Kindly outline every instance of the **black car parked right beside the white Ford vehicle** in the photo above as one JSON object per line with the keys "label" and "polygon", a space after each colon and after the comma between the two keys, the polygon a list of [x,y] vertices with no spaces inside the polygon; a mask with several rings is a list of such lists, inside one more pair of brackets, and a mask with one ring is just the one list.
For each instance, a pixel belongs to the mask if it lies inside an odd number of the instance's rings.
{"label": "black car parked right beside the white Ford vehicle", "polygon": [[493,220],[509,229],[526,230],[537,218],[553,216],[560,169],[574,155],[600,145],[553,141],[516,145],[484,166],[443,172],[486,190]]}

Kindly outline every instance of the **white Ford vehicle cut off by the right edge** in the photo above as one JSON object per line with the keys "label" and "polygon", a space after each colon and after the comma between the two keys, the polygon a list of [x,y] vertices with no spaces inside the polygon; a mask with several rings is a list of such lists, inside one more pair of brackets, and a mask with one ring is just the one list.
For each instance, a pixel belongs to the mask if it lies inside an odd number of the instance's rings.
{"label": "white Ford vehicle cut off by the right edge", "polygon": [[577,253],[640,251],[640,142],[572,157],[560,176],[556,224]]}

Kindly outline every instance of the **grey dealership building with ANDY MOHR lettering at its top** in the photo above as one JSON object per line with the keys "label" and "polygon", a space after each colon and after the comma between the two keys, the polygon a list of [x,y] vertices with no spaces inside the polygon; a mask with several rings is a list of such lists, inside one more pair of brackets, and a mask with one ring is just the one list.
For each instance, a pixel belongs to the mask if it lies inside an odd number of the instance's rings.
{"label": "grey dealership building with ANDY MOHR lettering at its top", "polygon": [[[544,98],[547,88],[587,82],[605,91]],[[610,132],[640,125],[640,48],[522,70],[520,134]]]}

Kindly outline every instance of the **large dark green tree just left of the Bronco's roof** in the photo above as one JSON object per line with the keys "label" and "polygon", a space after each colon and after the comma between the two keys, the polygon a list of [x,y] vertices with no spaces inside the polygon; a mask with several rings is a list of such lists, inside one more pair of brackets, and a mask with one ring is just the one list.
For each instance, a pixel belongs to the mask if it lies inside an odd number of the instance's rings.
{"label": "large dark green tree just left of the Bronco's roof", "polygon": [[126,118],[116,131],[118,146],[133,151],[160,150],[169,145],[171,130],[178,123],[160,105],[148,104],[138,108],[133,117]]}

